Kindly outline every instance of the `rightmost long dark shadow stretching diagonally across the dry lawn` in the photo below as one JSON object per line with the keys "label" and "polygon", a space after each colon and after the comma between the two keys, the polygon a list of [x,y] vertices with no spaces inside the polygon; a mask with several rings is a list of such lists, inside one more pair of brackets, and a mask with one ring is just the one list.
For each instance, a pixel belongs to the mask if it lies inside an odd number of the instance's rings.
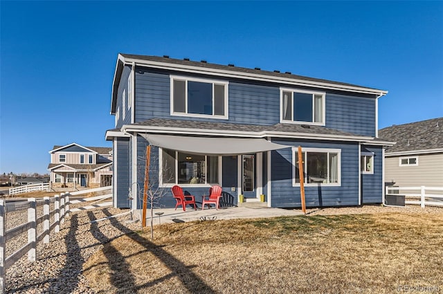
{"label": "rightmost long dark shadow stretching diagonally across the dry lawn", "polygon": [[[111,217],[111,213],[105,209],[103,212],[108,216]],[[165,280],[171,279],[172,277],[177,277],[181,284],[190,292],[190,293],[215,293],[215,291],[210,288],[199,276],[195,275],[195,273],[192,272],[191,268],[193,266],[186,266],[183,264],[182,261],[174,257],[174,255],[171,255],[169,252],[164,250],[163,246],[156,246],[156,244],[152,243],[148,239],[141,237],[140,235],[132,232],[132,230],[129,230],[127,227],[123,226],[120,221],[118,221],[115,218],[110,219],[112,226],[120,230],[121,232],[124,232],[127,237],[132,239],[134,242],[138,243],[139,245],[143,246],[146,250],[149,250],[152,252],[152,254],[157,257],[159,260],[163,262],[163,264],[168,267],[172,273],[165,275],[159,279],[155,279],[154,281],[147,282],[142,285],[136,286],[135,283],[132,284],[134,287],[132,288],[132,291],[138,291],[143,288],[149,288],[151,286],[154,286],[155,284],[159,284],[161,282],[164,282]],[[123,271],[125,268],[116,268],[114,270],[115,272]],[[127,291],[129,289],[127,288],[121,288],[121,284],[114,284],[117,288],[119,288],[121,291]]]}

